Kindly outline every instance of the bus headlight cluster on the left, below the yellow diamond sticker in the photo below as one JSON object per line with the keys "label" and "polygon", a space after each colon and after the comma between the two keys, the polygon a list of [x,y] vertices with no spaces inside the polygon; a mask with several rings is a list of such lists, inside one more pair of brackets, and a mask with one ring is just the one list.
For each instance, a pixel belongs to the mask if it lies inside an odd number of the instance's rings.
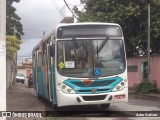
{"label": "bus headlight cluster on the left, below the yellow diamond sticker", "polygon": [[57,85],[60,88],[60,90],[66,94],[74,94],[75,93],[75,91],[72,88],[70,88],[69,86],[67,86],[63,83],[58,83]]}

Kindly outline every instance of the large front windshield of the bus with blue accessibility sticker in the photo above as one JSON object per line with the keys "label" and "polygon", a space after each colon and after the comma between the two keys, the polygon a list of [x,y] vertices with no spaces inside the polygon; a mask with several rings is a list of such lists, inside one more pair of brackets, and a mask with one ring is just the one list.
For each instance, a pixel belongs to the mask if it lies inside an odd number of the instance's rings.
{"label": "large front windshield of the bus with blue accessibility sticker", "polygon": [[57,42],[57,69],[67,77],[107,77],[124,72],[122,39],[73,39]]}

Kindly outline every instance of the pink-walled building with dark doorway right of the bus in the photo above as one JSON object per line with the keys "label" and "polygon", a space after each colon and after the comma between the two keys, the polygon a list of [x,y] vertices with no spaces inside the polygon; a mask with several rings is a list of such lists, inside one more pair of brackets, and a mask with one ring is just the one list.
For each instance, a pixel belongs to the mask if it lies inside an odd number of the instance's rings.
{"label": "pink-walled building with dark doorway right of the bus", "polygon": [[[127,58],[129,88],[147,79],[147,57]],[[150,80],[160,90],[160,55],[150,57]]]}

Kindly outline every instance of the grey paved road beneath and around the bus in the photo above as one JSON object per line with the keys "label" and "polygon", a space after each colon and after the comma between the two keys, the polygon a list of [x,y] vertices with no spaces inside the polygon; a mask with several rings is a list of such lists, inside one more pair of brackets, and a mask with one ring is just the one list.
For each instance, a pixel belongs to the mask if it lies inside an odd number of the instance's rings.
{"label": "grey paved road beneath and around the bus", "polygon": [[[13,89],[15,90],[15,89]],[[119,120],[119,116],[128,116],[132,115],[143,115],[151,113],[149,115],[153,115],[152,111],[158,111],[160,114],[160,103],[159,101],[151,101],[151,100],[143,100],[143,99],[135,99],[134,97],[129,97],[128,103],[114,103],[111,104],[108,111],[103,111],[100,106],[93,105],[93,106],[70,106],[70,107],[63,107],[60,110],[62,112],[55,112],[49,102],[46,102],[43,99],[38,99],[35,91],[32,88],[28,88],[27,85],[23,85],[18,83],[16,86],[16,90],[14,91],[14,97],[22,96],[20,99],[13,100],[13,90],[10,90],[8,93],[7,98],[12,100],[8,100],[8,110],[10,111],[51,111],[48,114],[52,114],[56,117],[56,120]],[[20,95],[18,95],[20,94]],[[27,105],[18,104],[18,101],[25,101]],[[14,103],[13,103],[14,102]],[[34,105],[34,106],[33,106]],[[28,108],[27,108],[28,107]],[[132,111],[139,111],[139,112],[132,112]],[[64,117],[65,116],[65,117]],[[113,118],[114,117],[114,118]],[[123,120],[141,120],[142,117],[123,117]],[[160,120],[160,117],[143,117],[146,120]],[[52,119],[51,119],[52,120]],[[54,119],[53,119],[54,120]]]}

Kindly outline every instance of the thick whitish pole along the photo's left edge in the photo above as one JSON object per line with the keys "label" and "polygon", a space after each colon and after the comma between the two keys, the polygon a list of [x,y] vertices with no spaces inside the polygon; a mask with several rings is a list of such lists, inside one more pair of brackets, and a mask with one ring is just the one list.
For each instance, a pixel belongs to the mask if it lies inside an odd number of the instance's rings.
{"label": "thick whitish pole along the photo's left edge", "polygon": [[6,111],[6,0],[0,0],[0,93],[0,111]]}

